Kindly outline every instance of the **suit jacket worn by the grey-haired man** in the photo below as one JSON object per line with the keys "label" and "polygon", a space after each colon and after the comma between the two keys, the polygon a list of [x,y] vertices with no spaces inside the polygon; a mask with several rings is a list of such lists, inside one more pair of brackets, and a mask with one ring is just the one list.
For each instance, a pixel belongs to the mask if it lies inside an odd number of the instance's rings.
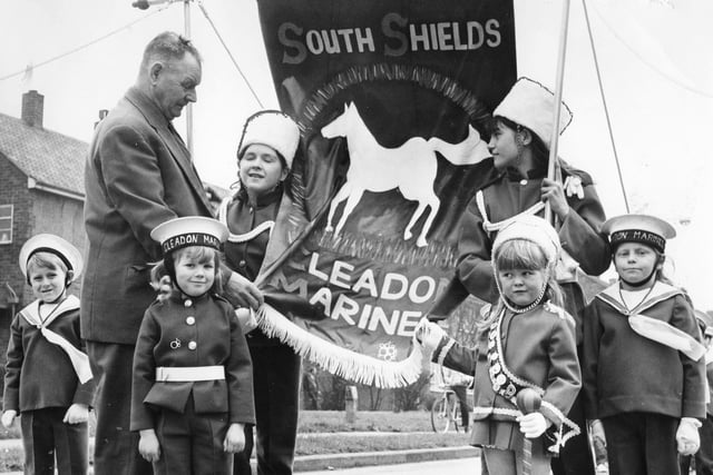
{"label": "suit jacket worn by the grey-haired man", "polygon": [[150,263],[162,253],[152,229],[176,217],[212,216],[211,205],[183,140],[136,88],[97,126],[85,187],[82,337],[134,345],[156,296]]}

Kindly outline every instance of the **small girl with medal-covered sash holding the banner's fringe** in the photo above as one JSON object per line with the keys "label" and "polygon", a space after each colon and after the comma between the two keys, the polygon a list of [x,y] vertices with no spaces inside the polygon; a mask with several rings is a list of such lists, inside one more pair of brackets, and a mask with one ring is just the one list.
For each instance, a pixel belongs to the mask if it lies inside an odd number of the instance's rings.
{"label": "small girl with medal-covered sash holding the banner's fringe", "polygon": [[[574,319],[558,306],[554,267],[559,239],[544,219],[522,216],[500,230],[492,249],[500,298],[492,308],[484,307],[476,347],[462,347],[427,321],[417,329],[417,340],[434,352],[437,363],[475,374],[471,444],[482,447],[488,473],[521,474],[527,437],[533,444],[530,473],[547,475],[548,454],[578,433],[565,416],[580,375]],[[518,410],[516,396],[522,388],[538,393],[539,410]],[[540,437],[548,427],[551,441]]]}

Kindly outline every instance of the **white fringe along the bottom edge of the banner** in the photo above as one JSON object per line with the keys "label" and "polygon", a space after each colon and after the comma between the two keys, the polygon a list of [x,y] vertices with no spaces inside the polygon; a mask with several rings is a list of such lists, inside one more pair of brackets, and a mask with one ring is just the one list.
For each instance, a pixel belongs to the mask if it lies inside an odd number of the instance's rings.
{"label": "white fringe along the bottom edge of the banner", "polygon": [[400,362],[373,358],[312,335],[268,304],[257,310],[257,326],[322,369],[358,384],[399,388],[416,383],[421,374],[423,354],[418,345]]}

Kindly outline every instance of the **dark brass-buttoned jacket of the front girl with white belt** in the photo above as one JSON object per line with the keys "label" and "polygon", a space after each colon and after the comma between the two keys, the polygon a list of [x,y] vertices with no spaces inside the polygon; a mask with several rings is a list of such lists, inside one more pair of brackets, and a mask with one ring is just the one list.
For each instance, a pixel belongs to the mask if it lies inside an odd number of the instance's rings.
{"label": "dark brass-buttoned jacket of the front girl with white belt", "polygon": [[[156,382],[157,367],[223,366],[225,379]],[[134,354],[131,431],[154,428],[157,409],[183,413],[193,395],[196,414],[227,413],[231,423],[255,422],[253,369],[231,304],[218,296],[154,303],[141,321]]]}

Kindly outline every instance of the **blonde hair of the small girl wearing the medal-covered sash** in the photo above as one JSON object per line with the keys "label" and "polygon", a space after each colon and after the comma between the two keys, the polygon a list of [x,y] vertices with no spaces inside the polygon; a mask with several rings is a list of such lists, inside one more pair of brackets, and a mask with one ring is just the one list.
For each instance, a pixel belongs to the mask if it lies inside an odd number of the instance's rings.
{"label": "blonde hair of the small girl wearing the medal-covered sash", "polygon": [[492,306],[490,314],[480,320],[478,326],[480,328],[490,326],[500,311],[502,311],[504,307],[507,306],[505,303],[507,297],[502,295],[500,281],[498,280],[498,270],[541,270],[547,276],[547,281],[545,283],[544,294],[539,303],[541,304],[543,301],[549,300],[561,307],[564,297],[561,288],[555,278],[555,261],[547,258],[543,248],[529,239],[509,239],[502,243],[498,247],[495,256],[492,256],[494,274],[500,298]]}

